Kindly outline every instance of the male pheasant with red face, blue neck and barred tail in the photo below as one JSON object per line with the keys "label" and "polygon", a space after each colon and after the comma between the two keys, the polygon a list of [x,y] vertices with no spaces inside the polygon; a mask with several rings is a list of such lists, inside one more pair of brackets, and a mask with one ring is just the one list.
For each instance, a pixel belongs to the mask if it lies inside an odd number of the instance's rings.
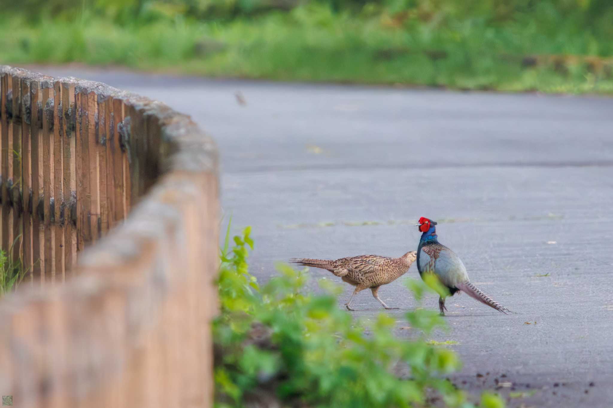
{"label": "male pheasant with red face, blue neck and barred tail", "polygon": [[[435,225],[435,221],[425,217],[419,218],[419,223],[415,225],[422,232],[419,247],[417,247],[417,270],[419,270],[419,276],[424,279],[424,273],[434,273],[440,283],[449,289],[450,296],[453,296],[457,291],[466,292],[466,294],[479,300],[479,302],[504,314],[507,312],[514,313],[494,302],[492,298],[479,291],[476,286],[470,283],[462,260],[458,258],[454,251],[438,242]],[[445,307],[445,297],[443,295],[438,298],[438,308],[441,310],[441,315],[444,316],[443,310],[447,310],[447,308]]]}

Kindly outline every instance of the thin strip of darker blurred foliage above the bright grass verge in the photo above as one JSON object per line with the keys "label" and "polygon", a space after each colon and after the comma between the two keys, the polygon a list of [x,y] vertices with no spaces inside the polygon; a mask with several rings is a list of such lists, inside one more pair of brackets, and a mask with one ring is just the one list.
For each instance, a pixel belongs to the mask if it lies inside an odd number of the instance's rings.
{"label": "thin strip of darker blurred foliage above the bright grass verge", "polygon": [[[487,20],[492,23],[521,18],[546,10],[542,18],[571,17],[586,29],[608,29],[611,32],[612,6],[609,0],[22,0],[4,6],[5,10],[21,10],[28,15],[66,15],[74,17],[86,10],[112,17],[143,18],[184,17],[195,19],[234,18],[269,10],[288,11],[308,3],[329,6],[334,12],[411,13],[421,20],[438,24],[451,21]],[[547,14],[550,14],[549,16]]]}

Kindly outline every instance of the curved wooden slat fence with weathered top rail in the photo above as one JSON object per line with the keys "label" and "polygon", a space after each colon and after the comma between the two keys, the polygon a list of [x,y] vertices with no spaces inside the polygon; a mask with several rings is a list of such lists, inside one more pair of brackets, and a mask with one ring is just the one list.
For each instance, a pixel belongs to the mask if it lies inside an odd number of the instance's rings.
{"label": "curved wooden slat fence with weathered top rail", "polygon": [[0,302],[0,393],[210,406],[215,144],[105,84],[6,66],[0,80],[0,242],[28,272]]}

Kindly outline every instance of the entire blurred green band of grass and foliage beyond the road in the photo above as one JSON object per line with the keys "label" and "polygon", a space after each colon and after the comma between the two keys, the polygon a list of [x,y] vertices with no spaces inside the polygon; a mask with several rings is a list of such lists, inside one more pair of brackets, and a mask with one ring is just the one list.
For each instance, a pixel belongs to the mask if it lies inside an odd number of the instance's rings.
{"label": "entire blurred green band of grass and foliage beyond the road", "polygon": [[611,0],[23,0],[0,61],[613,93]]}

